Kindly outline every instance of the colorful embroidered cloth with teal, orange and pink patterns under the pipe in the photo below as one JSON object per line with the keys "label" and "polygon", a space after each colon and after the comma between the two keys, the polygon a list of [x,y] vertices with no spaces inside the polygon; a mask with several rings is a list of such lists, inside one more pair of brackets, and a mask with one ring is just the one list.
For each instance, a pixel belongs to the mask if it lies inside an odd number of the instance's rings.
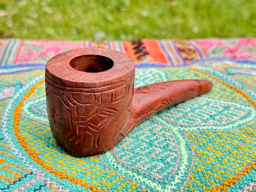
{"label": "colorful embroidered cloth with teal, orange and pink patterns under the pipe", "polygon": [[[136,62],[135,86],[207,79],[212,91],[141,122],[104,154],[60,148],[44,68],[58,53],[104,47]],[[0,191],[256,191],[256,39],[0,39]]]}

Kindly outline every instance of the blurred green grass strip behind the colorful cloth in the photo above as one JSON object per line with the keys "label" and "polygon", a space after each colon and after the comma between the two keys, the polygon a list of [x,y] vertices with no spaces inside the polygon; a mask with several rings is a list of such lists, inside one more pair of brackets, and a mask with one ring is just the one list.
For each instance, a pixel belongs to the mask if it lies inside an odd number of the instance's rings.
{"label": "blurred green grass strip behind the colorful cloth", "polygon": [[0,38],[256,37],[256,0],[0,0]]}

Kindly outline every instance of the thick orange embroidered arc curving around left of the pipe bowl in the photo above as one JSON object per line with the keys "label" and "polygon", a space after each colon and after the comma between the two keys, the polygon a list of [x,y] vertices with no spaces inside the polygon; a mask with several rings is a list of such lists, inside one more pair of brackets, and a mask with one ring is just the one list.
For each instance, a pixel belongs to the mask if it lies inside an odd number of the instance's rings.
{"label": "thick orange embroidered arc curving around left of the pipe bowl", "polygon": [[[22,148],[26,151],[26,153],[31,157],[33,161],[35,161],[38,165],[42,166],[45,170],[47,170],[49,173],[55,175],[59,179],[65,179],[72,184],[77,184],[80,185],[86,190],[91,189],[92,192],[102,192],[99,188],[94,188],[92,185],[88,186],[86,183],[81,182],[81,180],[76,179],[75,177],[71,177],[70,175],[65,175],[64,172],[60,172],[57,169],[54,169],[51,166],[47,166],[43,160],[40,159],[40,157],[37,155],[37,153],[33,150],[31,150],[26,144],[26,141],[22,138],[20,134],[20,127],[19,127],[19,122],[20,122],[20,117],[22,113],[22,106],[24,105],[25,101],[32,95],[32,93],[35,91],[35,88],[40,85],[41,83],[44,83],[44,79],[39,81],[38,83],[35,83],[31,89],[26,93],[26,95],[22,98],[22,100],[19,102],[18,106],[13,112],[13,117],[14,117],[14,122],[13,122],[13,131],[21,144]],[[107,192],[106,189],[103,189],[103,192]]]}

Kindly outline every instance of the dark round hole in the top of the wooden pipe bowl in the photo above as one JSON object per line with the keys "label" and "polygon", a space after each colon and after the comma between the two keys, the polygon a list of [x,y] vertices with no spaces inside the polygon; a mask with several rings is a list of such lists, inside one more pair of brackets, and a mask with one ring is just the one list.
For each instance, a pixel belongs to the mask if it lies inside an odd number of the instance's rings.
{"label": "dark round hole in the top of the wooden pipe bowl", "polygon": [[81,55],[73,58],[69,64],[75,70],[99,73],[111,69],[114,62],[110,58],[101,55]]}

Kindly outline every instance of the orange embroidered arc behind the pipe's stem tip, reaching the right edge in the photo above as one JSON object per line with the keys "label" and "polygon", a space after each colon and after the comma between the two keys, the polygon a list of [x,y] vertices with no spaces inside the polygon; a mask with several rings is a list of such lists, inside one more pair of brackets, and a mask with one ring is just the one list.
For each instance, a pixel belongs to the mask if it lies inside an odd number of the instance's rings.
{"label": "orange embroidered arc behind the pipe's stem tip, reaching the right edge", "polygon": [[245,99],[248,100],[248,101],[252,104],[252,106],[254,107],[254,109],[256,109],[256,103],[255,103],[254,100],[252,100],[245,92],[243,92],[243,91],[237,89],[236,87],[233,87],[232,85],[229,85],[229,84],[227,84],[227,83],[221,81],[220,79],[216,78],[215,76],[213,76],[213,75],[211,75],[211,74],[208,74],[208,73],[205,72],[205,71],[197,70],[197,69],[193,69],[193,68],[189,68],[189,69],[192,70],[192,71],[198,72],[198,73],[205,74],[205,75],[211,77],[212,79],[216,80],[218,83],[221,83],[221,84],[225,85],[226,87],[229,87],[229,88],[233,89],[235,92],[238,92],[239,94],[241,94],[242,96],[244,96]]}

